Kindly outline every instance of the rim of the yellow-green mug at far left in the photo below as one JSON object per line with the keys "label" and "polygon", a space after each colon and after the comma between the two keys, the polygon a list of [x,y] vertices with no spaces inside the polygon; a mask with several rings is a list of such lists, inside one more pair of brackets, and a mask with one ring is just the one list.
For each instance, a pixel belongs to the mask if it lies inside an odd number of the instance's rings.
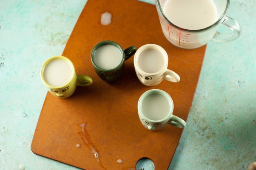
{"label": "rim of the yellow-green mug at far left", "polygon": [[[44,78],[44,76],[43,76],[43,74],[44,74],[44,69],[46,68],[46,65],[47,65],[49,62],[53,61],[54,59],[63,59],[63,60],[65,60],[65,61],[67,61],[68,64],[71,66],[71,69],[72,69],[72,76],[71,76],[71,78],[69,79],[69,81],[68,81],[66,84],[61,85],[61,86],[53,86],[53,85],[48,84],[48,82],[46,82],[46,80],[45,80],[45,78]],[[76,75],[76,72],[75,72],[74,64],[71,62],[70,59],[68,59],[67,57],[64,57],[64,56],[53,56],[53,57],[50,57],[50,58],[46,59],[46,61],[43,63],[43,65],[42,65],[42,67],[41,67],[41,70],[40,70],[40,77],[41,77],[43,83],[44,83],[47,87],[49,87],[49,88],[54,88],[54,89],[63,88],[63,87],[65,87],[65,86],[67,86],[67,85],[71,82],[71,80],[74,78],[75,75]]]}

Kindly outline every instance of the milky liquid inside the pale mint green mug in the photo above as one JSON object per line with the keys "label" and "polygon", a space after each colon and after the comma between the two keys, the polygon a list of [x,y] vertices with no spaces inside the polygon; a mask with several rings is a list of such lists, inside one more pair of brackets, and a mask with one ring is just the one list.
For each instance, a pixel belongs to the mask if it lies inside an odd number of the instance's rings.
{"label": "milky liquid inside the pale mint green mug", "polygon": [[150,94],[142,102],[142,113],[151,120],[164,119],[170,113],[169,102],[161,94]]}

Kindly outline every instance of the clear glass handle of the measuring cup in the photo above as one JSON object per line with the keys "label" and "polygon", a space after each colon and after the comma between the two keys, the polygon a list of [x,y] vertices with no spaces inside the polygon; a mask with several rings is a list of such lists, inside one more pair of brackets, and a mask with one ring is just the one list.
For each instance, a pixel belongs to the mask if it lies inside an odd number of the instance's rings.
{"label": "clear glass handle of the measuring cup", "polygon": [[217,31],[215,37],[213,37],[213,41],[229,42],[236,40],[242,34],[242,28],[236,20],[233,20],[232,18],[226,16],[222,24],[230,28],[231,32],[221,33]]}

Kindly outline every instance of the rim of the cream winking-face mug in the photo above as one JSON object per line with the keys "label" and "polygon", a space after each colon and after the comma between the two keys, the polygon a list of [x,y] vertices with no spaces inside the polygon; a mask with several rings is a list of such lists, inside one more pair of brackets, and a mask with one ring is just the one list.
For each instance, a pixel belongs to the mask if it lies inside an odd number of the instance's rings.
{"label": "rim of the cream winking-face mug", "polygon": [[[145,51],[147,49],[156,49],[158,50],[162,56],[164,57],[164,60],[165,60],[165,63],[164,63],[164,67],[155,72],[155,73],[147,73],[145,71],[142,71],[141,68],[139,68],[139,65],[138,65],[138,58],[139,58],[139,55],[142,53],[142,51]],[[160,50],[159,50],[160,49]],[[136,53],[134,54],[134,66],[135,66],[135,69],[137,69],[137,71],[139,71],[139,73],[142,73],[142,74],[145,74],[145,75],[156,75],[156,74],[159,74],[161,72],[164,72],[166,69],[168,69],[168,54],[167,52],[165,51],[164,48],[162,48],[160,45],[157,45],[157,44],[145,44],[145,45],[142,45],[137,51]]]}

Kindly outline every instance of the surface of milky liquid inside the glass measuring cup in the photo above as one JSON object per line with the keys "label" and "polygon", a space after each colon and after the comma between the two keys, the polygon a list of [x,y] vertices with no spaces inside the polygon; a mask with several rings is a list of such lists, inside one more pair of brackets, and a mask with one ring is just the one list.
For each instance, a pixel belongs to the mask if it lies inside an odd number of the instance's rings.
{"label": "surface of milky liquid inside the glass measuring cup", "polygon": [[212,0],[167,0],[163,12],[171,23],[189,30],[203,29],[217,21]]}

